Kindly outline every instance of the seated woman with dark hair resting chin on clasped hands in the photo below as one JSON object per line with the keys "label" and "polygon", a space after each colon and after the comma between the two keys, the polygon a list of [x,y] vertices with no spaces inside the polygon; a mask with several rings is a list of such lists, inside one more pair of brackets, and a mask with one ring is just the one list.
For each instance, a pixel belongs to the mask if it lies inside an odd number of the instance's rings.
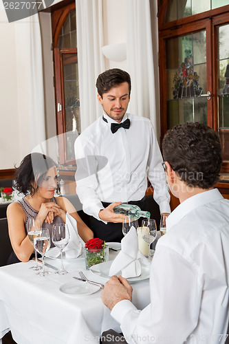
{"label": "seated woman with dark hair resting chin on clasped hands", "polygon": [[72,203],[65,197],[54,197],[56,164],[50,157],[41,153],[26,155],[16,175],[16,189],[25,197],[7,208],[9,235],[14,250],[8,264],[28,261],[34,252],[28,238],[28,219],[31,217],[41,222],[43,227],[49,228],[51,236],[52,226],[66,222],[66,213],[69,213],[76,219],[78,234],[83,241],[94,237]]}

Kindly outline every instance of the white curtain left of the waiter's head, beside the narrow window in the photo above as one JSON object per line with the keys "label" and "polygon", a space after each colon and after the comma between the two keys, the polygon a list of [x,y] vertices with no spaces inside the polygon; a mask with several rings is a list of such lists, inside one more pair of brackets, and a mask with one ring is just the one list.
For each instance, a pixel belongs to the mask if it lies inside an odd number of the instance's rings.
{"label": "white curtain left of the waiter's head, beside the narrow window", "polygon": [[102,0],[76,0],[81,130],[102,114],[96,90],[98,74],[105,71],[102,20]]}

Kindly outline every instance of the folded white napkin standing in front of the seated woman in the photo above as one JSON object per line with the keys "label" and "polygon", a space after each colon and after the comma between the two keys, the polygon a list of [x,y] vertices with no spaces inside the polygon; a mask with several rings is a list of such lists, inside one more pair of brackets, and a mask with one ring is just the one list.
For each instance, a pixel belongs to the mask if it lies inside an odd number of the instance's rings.
{"label": "folded white napkin standing in front of the seated woman", "polygon": [[[66,224],[69,228],[70,239],[64,249],[65,257],[77,258],[83,253],[85,242],[78,235],[76,220],[74,217],[69,215],[69,213],[66,214]],[[52,250],[47,251],[45,257],[57,258],[59,255],[61,255],[61,251],[55,247],[52,248]]]}

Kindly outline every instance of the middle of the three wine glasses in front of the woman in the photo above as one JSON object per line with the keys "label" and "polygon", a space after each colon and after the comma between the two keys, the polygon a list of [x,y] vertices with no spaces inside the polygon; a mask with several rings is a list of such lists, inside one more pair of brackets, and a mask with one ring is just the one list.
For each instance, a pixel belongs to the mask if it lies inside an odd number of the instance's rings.
{"label": "middle of the three wine glasses in front of the woman", "polygon": [[45,276],[50,272],[45,270],[45,263],[44,263],[44,255],[47,250],[50,249],[51,246],[51,239],[50,239],[50,231],[47,228],[41,229],[41,237],[34,238],[34,248],[41,254],[42,257],[42,270],[39,272],[39,275]]}

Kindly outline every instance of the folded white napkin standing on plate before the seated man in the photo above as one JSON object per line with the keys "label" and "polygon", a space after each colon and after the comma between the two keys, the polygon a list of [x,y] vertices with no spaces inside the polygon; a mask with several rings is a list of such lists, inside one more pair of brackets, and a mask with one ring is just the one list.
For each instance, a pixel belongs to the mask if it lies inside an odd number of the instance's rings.
{"label": "folded white napkin standing on plate before the seated man", "polygon": [[138,236],[132,226],[127,235],[122,238],[121,250],[114,259],[109,270],[109,276],[121,272],[122,277],[138,277],[142,272],[142,264],[149,265],[149,260],[138,250]]}

